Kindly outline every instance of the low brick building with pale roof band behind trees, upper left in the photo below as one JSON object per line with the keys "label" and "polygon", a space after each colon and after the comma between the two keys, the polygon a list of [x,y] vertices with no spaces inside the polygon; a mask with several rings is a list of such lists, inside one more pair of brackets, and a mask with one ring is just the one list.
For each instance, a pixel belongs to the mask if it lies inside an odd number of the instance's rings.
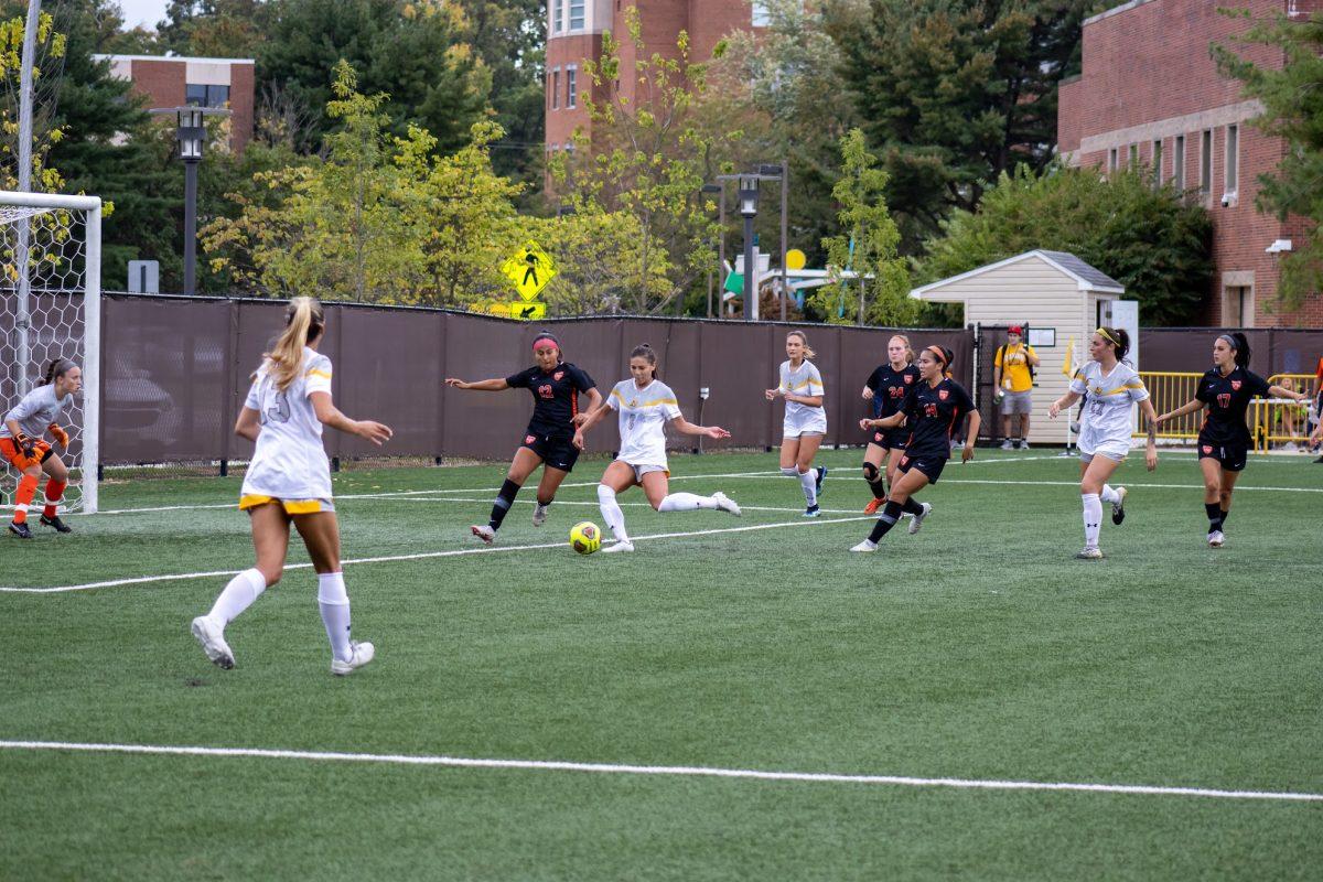
{"label": "low brick building with pale roof band behind trees, upper left", "polygon": [[151,107],[226,107],[230,149],[253,140],[254,66],[251,58],[188,58],[184,56],[95,56],[110,61],[110,71],[130,79]]}

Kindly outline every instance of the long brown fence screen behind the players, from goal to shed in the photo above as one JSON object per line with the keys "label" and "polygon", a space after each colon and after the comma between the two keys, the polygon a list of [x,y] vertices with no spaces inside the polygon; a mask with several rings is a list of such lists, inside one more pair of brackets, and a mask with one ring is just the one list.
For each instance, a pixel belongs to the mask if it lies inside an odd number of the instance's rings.
{"label": "long brown fence screen behind the players, from goal to shed", "polygon": [[[232,427],[249,374],[282,327],[283,303],[107,295],[103,299],[102,461],[107,465],[246,459],[251,444]],[[327,434],[332,456],[463,456],[505,459],[523,435],[531,402],[524,390],[447,389],[446,377],[507,377],[532,364],[538,327],[433,309],[327,304],[321,350],[335,364],[336,403],[352,417],[389,423],[384,451]],[[639,342],[656,349],[662,378],[692,422],[729,428],[728,444],[781,443],[777,383],[785,335],[792,325],[683,319],[561,319],[548,321],[566,361],[583,368],[606,394],[628,376]],[[826,442],[863,443],[857,421],[869,413],[864,381],[885,358],[885,328],[800,325],[816,350],[827,386]],[[968,383],[967,331],[909,332],[916,346],[955,352],[955,376]],[[699,390],[709,397],[701,401]],[[615,450],[615,422],[594,431],[595,450]],[[693,443],[672,438],[675,447]]]}

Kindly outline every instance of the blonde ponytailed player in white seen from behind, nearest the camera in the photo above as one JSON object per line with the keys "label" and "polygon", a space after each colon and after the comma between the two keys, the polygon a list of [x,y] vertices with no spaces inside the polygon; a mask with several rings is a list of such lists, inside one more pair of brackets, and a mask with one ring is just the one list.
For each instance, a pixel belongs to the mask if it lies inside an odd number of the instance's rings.
{"label": "blonde ponytailed player in white seen from behind, nearest the camera", "polygon": [[331,463],[321,447],[321,427],[389,440],[388,426],[353,421],[331,401],[331,360],[318,353],[325,332],[321,304],[294,298],[284,311],[284,332],[262,356],[234,434],[257,442],[243,476],[239,508],[249,513],[257,566],[230,579],[212,611],[193,619],[193,636],[206,657],[234,666],[225,625],[280,581],[290,547],[290,525],[318,573],[318,607],[331,640],[331,673],[344,676],[372,661],[370,643],[349,639],[349,595],[340,571],[340,525],[331,501]]}

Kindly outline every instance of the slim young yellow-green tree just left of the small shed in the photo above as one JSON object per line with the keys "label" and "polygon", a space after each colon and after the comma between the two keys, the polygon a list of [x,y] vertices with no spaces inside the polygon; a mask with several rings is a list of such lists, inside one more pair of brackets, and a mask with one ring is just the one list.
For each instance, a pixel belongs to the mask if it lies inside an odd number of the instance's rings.
{"label": "slim young yellow-green tree just left of the small shed", "polygon": [[[841,177],[832,196],[844,231],[823,241],[827,266],[837,280],[818,288],[810,303],[833,324],[905,327],[918,309],[909,299],[909,272],[897,253],[901,234],[886,209],[886,172],[877,168],[857,128],[841,138],[840,153]],[[840,278],[843,270],[853,270],[857,278]]]}

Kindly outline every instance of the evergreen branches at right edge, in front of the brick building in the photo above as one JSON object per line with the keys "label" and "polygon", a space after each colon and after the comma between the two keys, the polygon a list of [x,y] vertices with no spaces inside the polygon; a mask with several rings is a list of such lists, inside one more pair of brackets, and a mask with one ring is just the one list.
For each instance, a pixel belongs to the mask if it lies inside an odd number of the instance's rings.
{"label": "evergreen branches at right edge, in front of the brick building", "polygon": [[[1249,17],[1248,11],[1229,15]],[[1224,74],[1245,83],[1246,97],[1263,104],[1253,124],[1286,141],[1277,168],[1258,176],[1254,205],[1283,221],[1291,216],[1308,221],[1303,247],[1282,261],[1278,301],[1293,311],[1323,290],[1323,13],[1307,21],[1281,12],[1254,20],[1237,42],[1282,50],[1281,67],[1257,66],[1226,45],[1215,45],[1213,56]]]}

